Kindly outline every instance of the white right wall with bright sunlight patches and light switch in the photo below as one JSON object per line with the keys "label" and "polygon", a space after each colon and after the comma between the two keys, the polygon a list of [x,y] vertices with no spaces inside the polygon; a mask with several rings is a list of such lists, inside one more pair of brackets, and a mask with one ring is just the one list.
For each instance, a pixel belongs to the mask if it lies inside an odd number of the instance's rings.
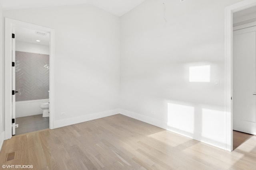
{"label": "white right wall with bright sunlight patches and light switch", "polygon": [[225,149],[224,8],[239,1],[146,0],[122,16],[121,113]]}

